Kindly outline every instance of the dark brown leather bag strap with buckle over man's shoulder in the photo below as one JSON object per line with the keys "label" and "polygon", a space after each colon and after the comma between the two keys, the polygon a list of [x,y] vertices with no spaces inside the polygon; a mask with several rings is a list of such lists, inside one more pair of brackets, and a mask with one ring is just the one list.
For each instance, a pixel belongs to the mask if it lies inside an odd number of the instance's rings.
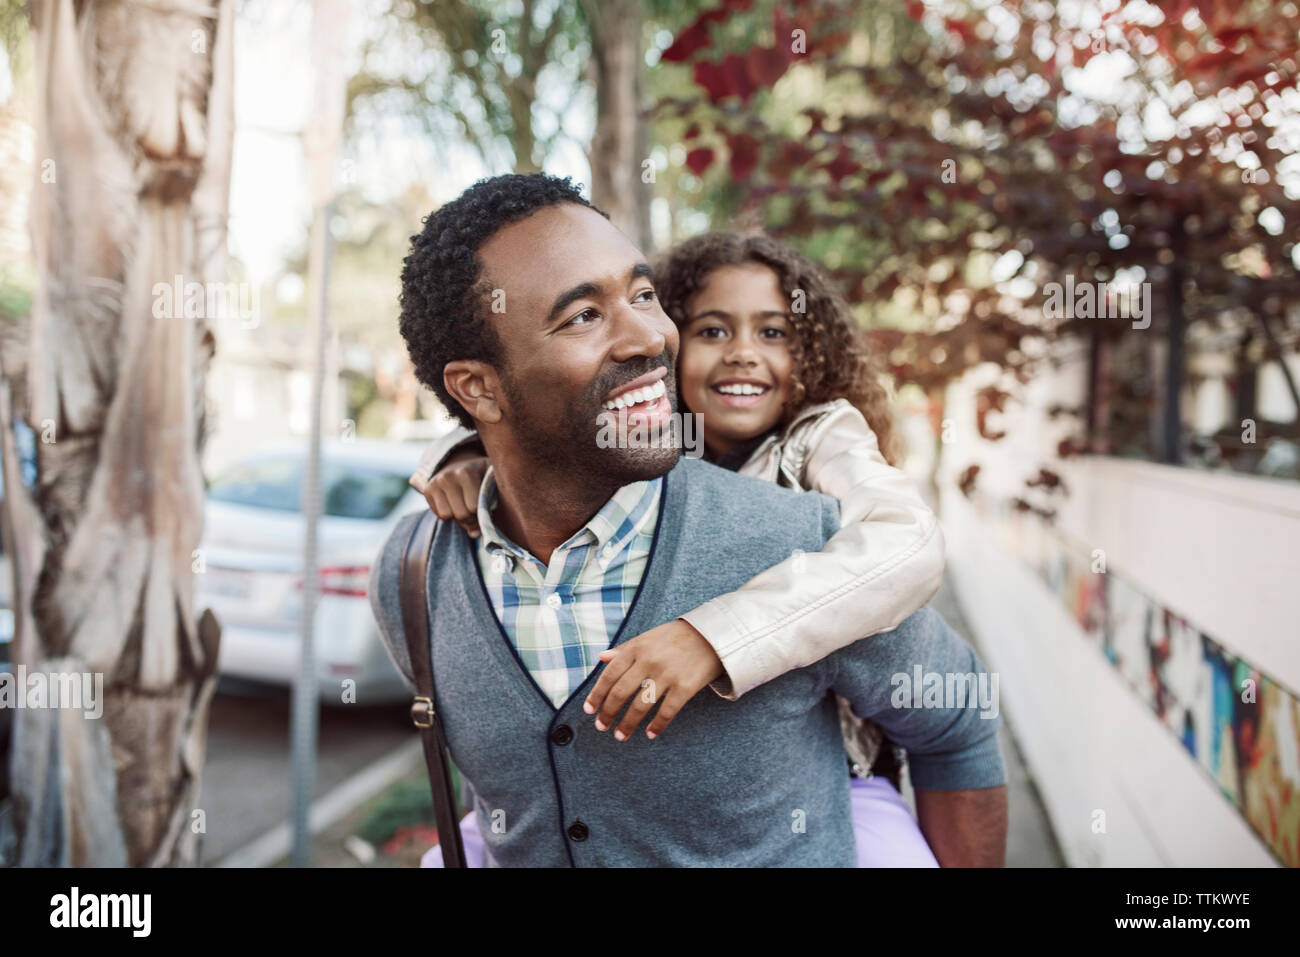
{"label": "dark brown leather bag strap with buckle over man's shoulder", "polygon": [[438,826],[438,844],[442,846],[443,867],[465,867],[465,845],[460,836],[460,817],[456,794],[451,788],[447,767],[447,737],[438,718],[433,690],[433,663],[429,646],[429,551],[433,547],[433,512],[425,511],[402,555],[398,588],[402,596],[402,632],[406,635],[411,674],[415,676],[416,696],[411,703],[411,723],[420,729],[424,742],[424,763],[429,767],[429,788],[433,791],[433,818]]}

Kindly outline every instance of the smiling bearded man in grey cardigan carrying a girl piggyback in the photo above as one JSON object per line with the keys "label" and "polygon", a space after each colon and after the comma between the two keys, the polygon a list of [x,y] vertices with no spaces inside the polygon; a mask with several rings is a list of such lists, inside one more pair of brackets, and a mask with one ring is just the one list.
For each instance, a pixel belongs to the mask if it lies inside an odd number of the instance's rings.
{"label": "smiling bearded man in grey cardigan carrying a girl piggyback", "polygon": [[[820,550],[838,528],[828,497],[663,445],[597,441],[607,403],[629,393],[642,425],[672,412],[677,332],[649,277],[602,213],[542,174],[471,187],[406,259],[400,325],[416,374],[491,462],[482,534],[438,523],[428,583],[437,705],[488,863],[852,866],[835,690],[907,748],[940,863],[1000,865],[997,719],[890,702],[890,675],[984,670],[930,609],[740,701],[698,696],[655,740],[619,741],[584,714],[606,646],[794,549]],[[408,681],[396,583],[415,520],[385,544],[369,592]]]}

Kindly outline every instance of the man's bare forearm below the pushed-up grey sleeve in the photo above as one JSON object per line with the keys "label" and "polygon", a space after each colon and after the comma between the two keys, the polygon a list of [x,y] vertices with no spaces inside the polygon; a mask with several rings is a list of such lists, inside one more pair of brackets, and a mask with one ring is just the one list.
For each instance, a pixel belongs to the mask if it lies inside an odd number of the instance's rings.
{"label": "man's bare forearm below the pushed-up grey sleeve", "polygon": [[1006,787],[916,791],[916,823],[940,867],[1006,863]]}

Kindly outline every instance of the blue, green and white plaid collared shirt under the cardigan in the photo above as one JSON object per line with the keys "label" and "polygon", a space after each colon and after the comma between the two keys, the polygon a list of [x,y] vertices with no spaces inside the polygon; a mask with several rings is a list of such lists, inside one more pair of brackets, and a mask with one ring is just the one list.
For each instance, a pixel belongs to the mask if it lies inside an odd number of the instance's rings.
{"label": "blue, green and white plaid collared shirt under the cardigan", "polygon": [[478,567],[515,651],[555,707],[601,663],[650,558],[663,477],[624,485],[551,554],[550,566],[491,520],[497,478],[478,489]]}

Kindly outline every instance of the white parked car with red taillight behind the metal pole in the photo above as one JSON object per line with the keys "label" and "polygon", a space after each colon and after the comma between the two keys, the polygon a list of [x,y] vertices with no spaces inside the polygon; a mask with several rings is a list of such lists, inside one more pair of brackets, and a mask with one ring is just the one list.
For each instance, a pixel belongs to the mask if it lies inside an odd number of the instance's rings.
{"label": "white parked car with red taillight behind the metal pole", "polygon": [[[321,446],[316,675],[322,703],[410,696],[380,642],[370,562],[403,515],[426,508],[407,485],[421,445],[355,439]],[[302,485],[306,441],[251,455],[208,485],[195,607],[221,623],[224,676],[291,685],[302,644]],[[202,571],[200,571],[202,570]]]}

